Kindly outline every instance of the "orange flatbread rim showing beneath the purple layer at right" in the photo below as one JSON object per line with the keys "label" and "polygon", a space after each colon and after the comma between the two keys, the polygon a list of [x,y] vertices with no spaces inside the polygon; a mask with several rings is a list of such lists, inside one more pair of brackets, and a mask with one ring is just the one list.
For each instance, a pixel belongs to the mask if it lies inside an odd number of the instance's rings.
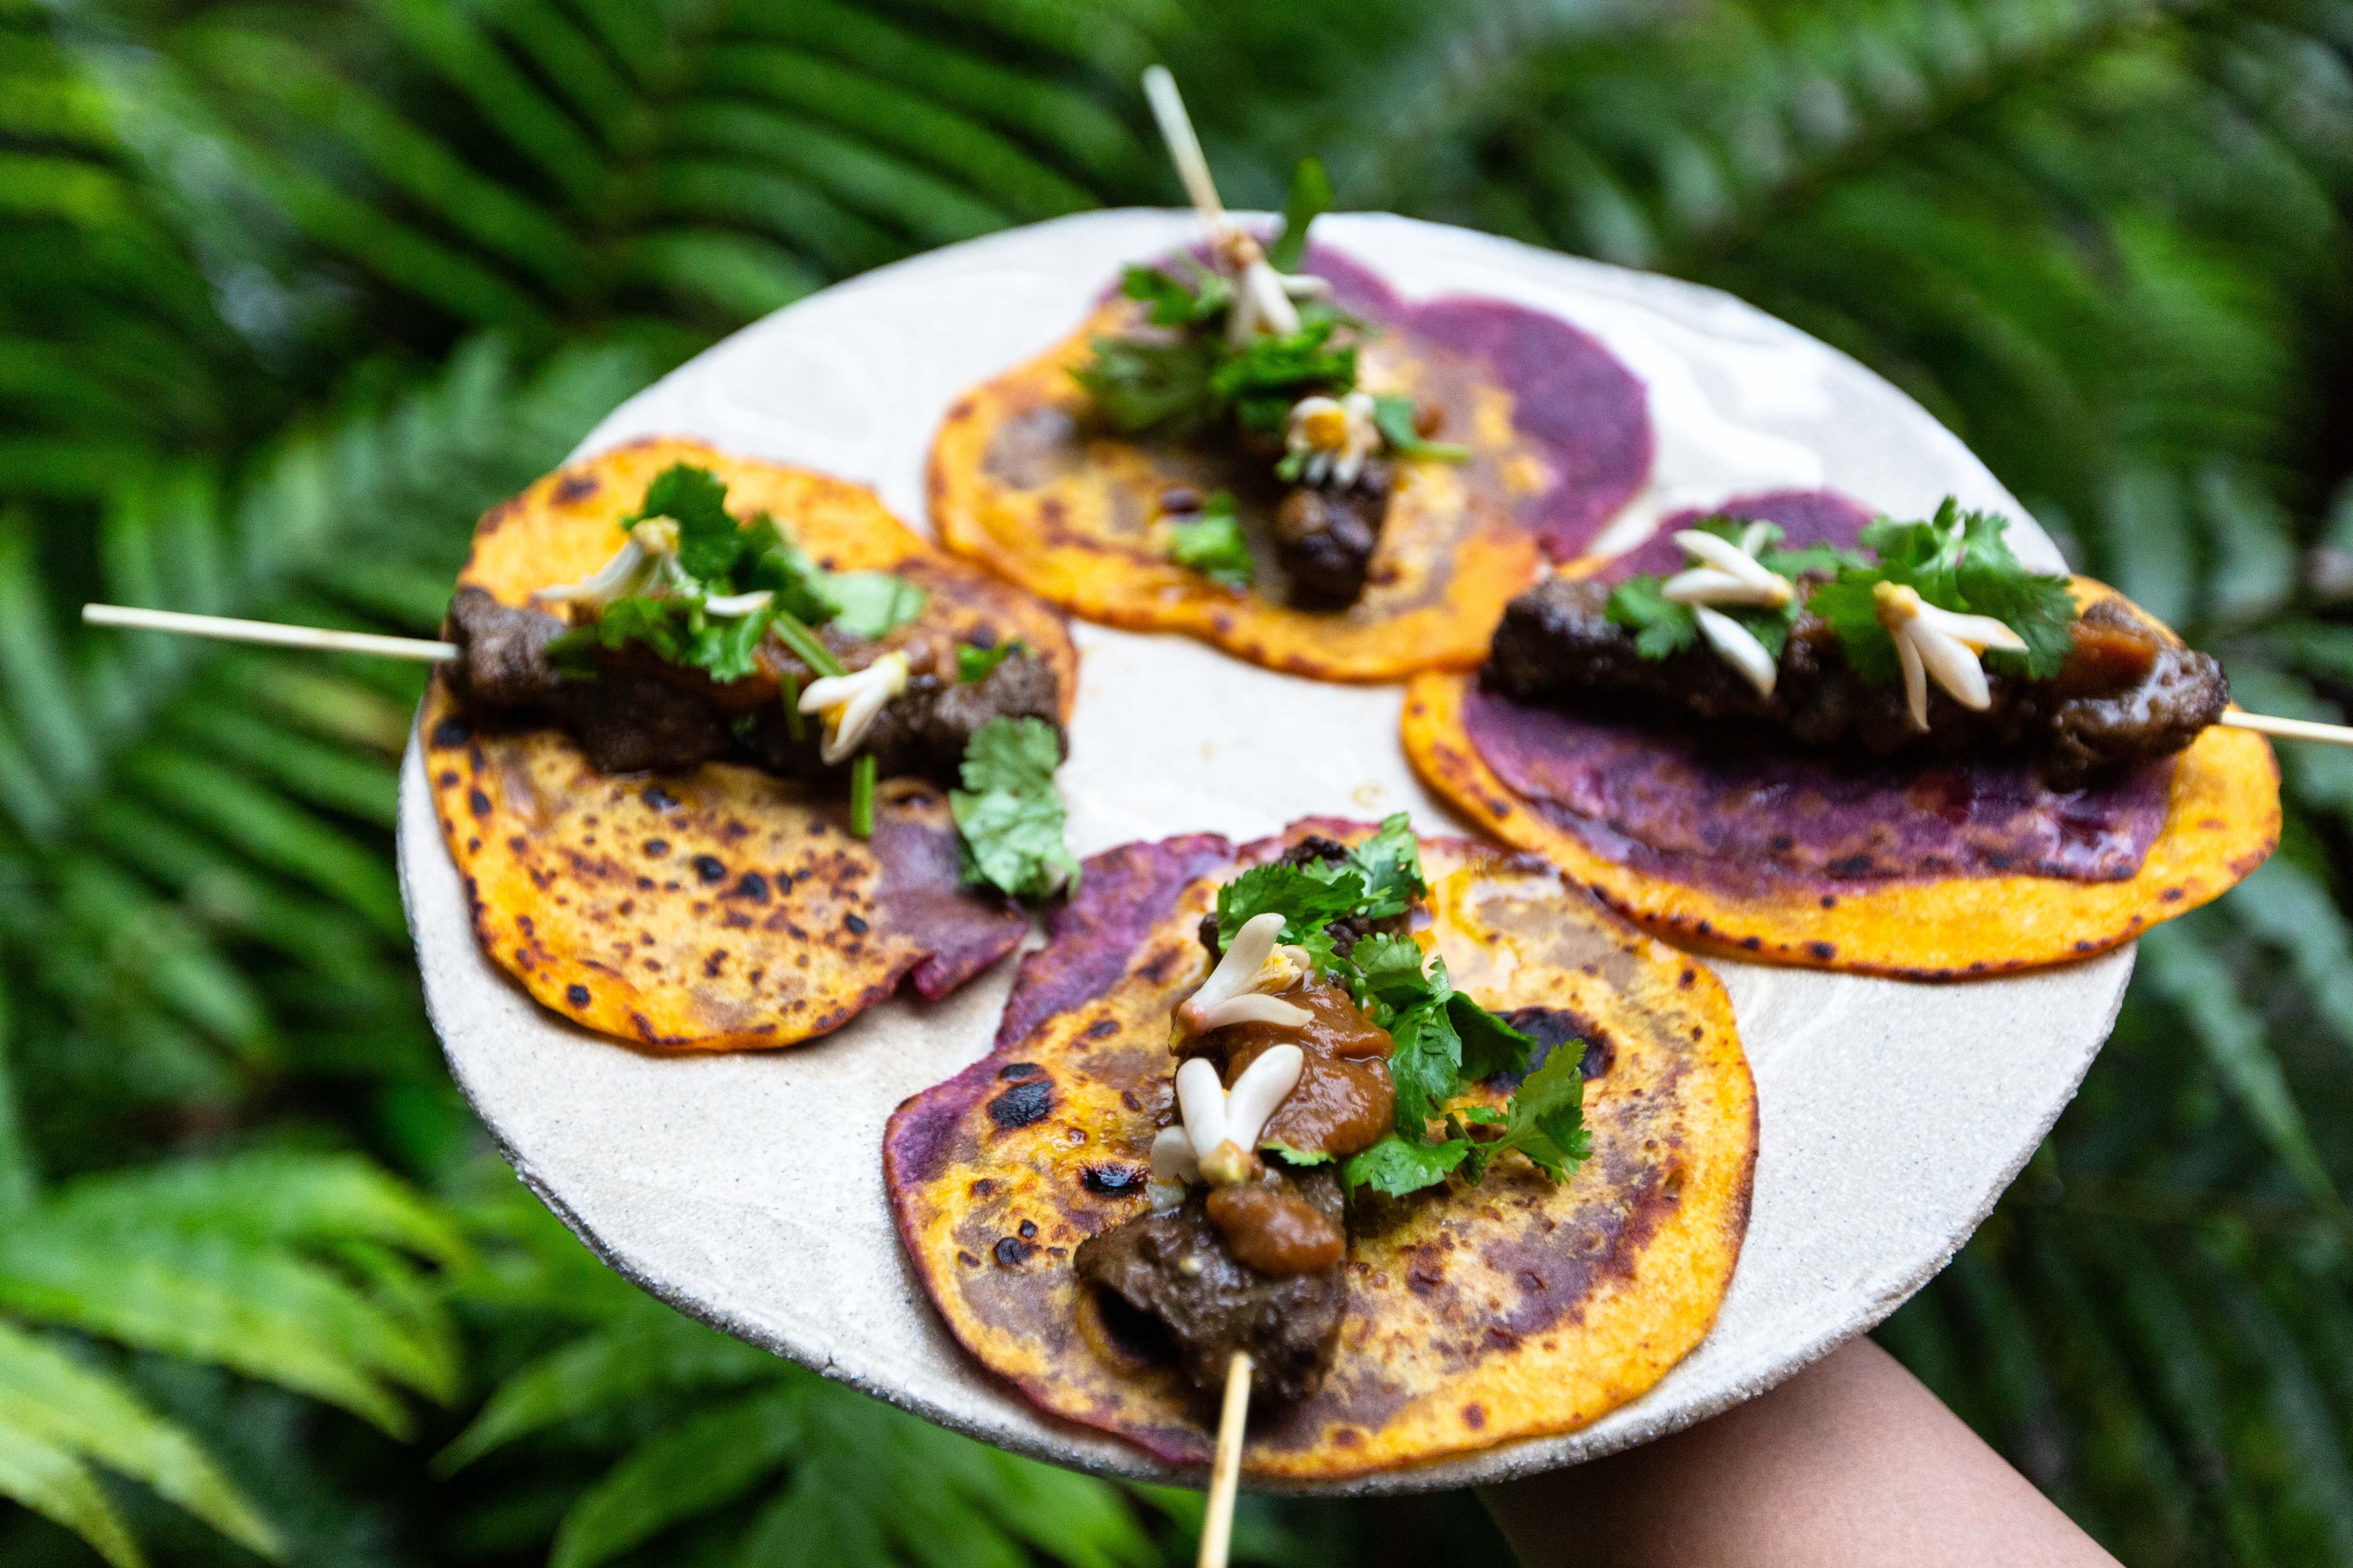
{"label": "orange flatbread rim showing beneath the purple layer at right", "polygon": [[[2078,578],[2089,604],[2111,588]],[[2212,726],[2174,764],[2165,820],[2139,870],[2118,882],[2064,877],[1913,877],[1791,882],[1732,893],[1635,870],[1520,797],[1464,726],[1475,675],[1428,675],[1405,693],[1405,755],[1464,816],[1591,886],[1612,910],[1699,952],[1906,980],[1962,980],[2064,964],[2129,943],[2219,898],[2280,842],[2280,769],[2249,731]]]}

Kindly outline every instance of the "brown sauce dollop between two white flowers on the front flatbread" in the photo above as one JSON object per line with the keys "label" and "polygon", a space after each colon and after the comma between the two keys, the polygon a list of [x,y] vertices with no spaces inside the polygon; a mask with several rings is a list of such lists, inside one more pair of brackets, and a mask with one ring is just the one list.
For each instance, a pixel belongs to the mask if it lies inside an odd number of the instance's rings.
{"label": "brown sauce dollop between two white flowers on the front flatbread", "polygon": [[1388,1135],[1398,1088],[1388,1077],[1395,1048],[1388,1030],[1374,1027],[1339,985],[1313,980],[1282,992],[1313,1018],[1292,1030],[1271,1023],[1235,1023],[1186,1044],[1186,1056],[1224,1053],[1231,1088],[1268,1046],[1299,1046],[1306,1065],[1299,1086],[1282,1098],[1259,1143],[1280,1143],[1301,1154],[1355,1154]]}

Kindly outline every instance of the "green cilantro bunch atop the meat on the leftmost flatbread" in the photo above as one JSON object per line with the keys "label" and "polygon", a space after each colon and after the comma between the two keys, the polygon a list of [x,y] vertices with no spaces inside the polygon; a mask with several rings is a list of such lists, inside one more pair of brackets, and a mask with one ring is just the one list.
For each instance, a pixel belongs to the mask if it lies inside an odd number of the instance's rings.
{"label": "green cilantro bunch atop the meat on the leftmost flatbread", "polygon": [[[612,599],[595,621],[553,639],[551,658],[574,677],[595,677],[595,649],[640,644],[664,663],[736,682],[758,668],[755,651],[772,628],[791,635],[831,621],[859,637],[882,637],[922,614],[922,588],[901,576],[826,571],[765,512],[739,524],[727,510],[727,484],[708,468],[673,463],[654,475],[638,510],[621,520],[621,536],[647,517],[678,524],[675,571],[664,592]],[[772,595],[762,609],[744,616],[708,609],[711,599],[758,590]]]}

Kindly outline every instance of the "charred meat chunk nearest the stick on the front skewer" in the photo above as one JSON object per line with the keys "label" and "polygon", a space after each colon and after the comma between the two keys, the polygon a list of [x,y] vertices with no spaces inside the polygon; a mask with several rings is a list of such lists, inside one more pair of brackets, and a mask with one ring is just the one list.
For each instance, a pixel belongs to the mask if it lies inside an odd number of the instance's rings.
{"label": "charred meat chunk nearest the stick on the front skewer", "polygon": [[[1257,1182],[1254,1182],[1257,1185]],[[1329,1171],[1275,1175],[1280,1197],[1294,1197],[1341,1234],[1339,1178]],[[1261,1206],[1238,1199],[1224,1206]],[[1268,1211],[1275,1201],[1264,1201]],[[1297,1218],[1297,1215],[1292,1215]],[[1254,1248],[1254,1241],[1245,1241]],[[1339,1324],[1348,1307],[1348,1274],[1339,1248],[1329,1262],[1297,1274],[1268,1274],[1242,1262],[1226,1232],[1209,1215],[1200,1192],[1181,1208],[1139,1215],[1092,1237],[1071,1255],[1078,1276],[1094,1286],[1113,1331],[1122,1319],[1146,1319],[1176,1352],[1184,1380],[1202,1399],[1226,1382],[1233,1352],[1257,1361],[1252,1399],[1297,1403],[1313,1394],[1339,1349]]]}

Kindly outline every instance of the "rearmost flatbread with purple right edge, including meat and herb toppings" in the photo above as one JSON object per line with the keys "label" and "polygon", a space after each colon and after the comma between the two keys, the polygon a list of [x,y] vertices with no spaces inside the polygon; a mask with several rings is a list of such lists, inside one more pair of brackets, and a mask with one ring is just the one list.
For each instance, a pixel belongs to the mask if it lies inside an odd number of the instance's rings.
{"label": "rearmost flatbread with purple right edge, including meat and herb toppings", "polygon": [[[929,465],[951,550],[1092,621],[1395,679],[1475,665],[1504,602],[1649,475],[1642,383],[1558,317],[1407,303],[1308,247],[1299,324],[1242,346],[1219,266],[1129,268],[1073,339],[969,395]],[[1186,355],[1217,367],[1158,395]]]}

